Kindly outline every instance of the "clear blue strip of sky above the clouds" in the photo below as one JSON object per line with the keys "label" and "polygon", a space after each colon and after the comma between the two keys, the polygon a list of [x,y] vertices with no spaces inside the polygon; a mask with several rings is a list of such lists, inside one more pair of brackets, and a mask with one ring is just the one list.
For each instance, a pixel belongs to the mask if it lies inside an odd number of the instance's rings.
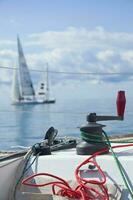
{"label": "clear blue strip of sky above the clouds", "polygon": [[132,0],[1,0],[1,37],[66,27],[132,32]]}

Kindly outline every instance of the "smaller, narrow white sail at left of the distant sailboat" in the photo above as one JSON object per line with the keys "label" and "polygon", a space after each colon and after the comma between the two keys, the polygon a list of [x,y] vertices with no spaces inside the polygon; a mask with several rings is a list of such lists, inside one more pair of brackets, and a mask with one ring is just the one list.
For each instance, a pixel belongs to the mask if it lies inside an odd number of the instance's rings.
{"label": "smaller, narrow white sail at left of the distant sailboat", "polygon": [[16,102],[21,99],[19,82],[18,82],[18,70],[14,71],[13,84],[12,84],[12,101]]}

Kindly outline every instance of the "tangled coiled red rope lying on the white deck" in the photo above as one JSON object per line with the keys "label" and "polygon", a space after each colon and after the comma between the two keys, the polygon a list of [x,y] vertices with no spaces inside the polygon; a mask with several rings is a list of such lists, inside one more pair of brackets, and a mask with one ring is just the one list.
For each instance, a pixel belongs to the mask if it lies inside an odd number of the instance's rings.
{"label": "tangled coiled red rope lying on the white deck", "polygon": [[[133,144],[126,144],[126,145],[117,145],[113,146],[113,149],[116,148],[124,148],[124,147],[133,147]],[[100,168],[100,166],[95,161],[96,156],[106,153],[108,151],[108,148],[104,148],[93,155],[91,155],[88,159],[83,161],[80,165],[77,166],[75,170],[75,178],[77,180],[78,186],[73,189],[67,181],[64,179],[49,174],[49,173],[38,173],[33,174],[25,179],[23,179],[22,184],[31,186],[31,187],[45,187],[48,185],[52,186],[52,192],[54,195],[60,195],[68,198],[76,198],[80,200],[109,200],[109,194],[108,190],[105,186],[106,183],[106,176],[103,172],[103,170]],[[93,164],[99,173],[99,179],[88,179],[88,178],[82,178],[80,174],[80,169],[88,164]],[[93,172],[93,170],[88,170],[88,173]],[[48,176],[56,179],[57,181],[51,181],[44,184],[33,184],[30,181],[38,176]],[[97,187],[95,187],[97,186]],[[98,188],[98,189],[97,189]]]}

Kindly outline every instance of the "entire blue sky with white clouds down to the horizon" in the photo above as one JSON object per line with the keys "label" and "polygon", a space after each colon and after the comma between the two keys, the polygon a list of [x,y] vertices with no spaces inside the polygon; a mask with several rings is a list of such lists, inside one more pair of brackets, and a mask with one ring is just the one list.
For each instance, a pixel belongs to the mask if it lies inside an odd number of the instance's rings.
{"label": "entire blue sky with white clouds down to the horizon", "polygon": [[[57,98],[133,98],[133,0],[0,0],[0,66],[17,67],[17,34],[29,69],[50,74]],[[42,74],[31,72],[37,84]],[[12,70],[0,69],[8,92]],[[59,92],[60,91],[60,92]]]}

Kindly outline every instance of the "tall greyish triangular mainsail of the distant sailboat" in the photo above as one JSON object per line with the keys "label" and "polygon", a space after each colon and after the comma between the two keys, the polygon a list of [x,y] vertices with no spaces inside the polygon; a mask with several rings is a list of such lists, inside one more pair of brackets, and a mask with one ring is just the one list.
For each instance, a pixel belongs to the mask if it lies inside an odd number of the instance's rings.
{"label": "tall greyish triangular mainsail of the distant sailboat", "polygon": [[23,49],[19,40],[18,42],[18,59],[19,59],[19,81],[20,81],[20,91],[21,96],[35,96],[34,87],[30,78],[30,73],[28,70],[28,66],[26,63],[26,59],[24,57]]}

